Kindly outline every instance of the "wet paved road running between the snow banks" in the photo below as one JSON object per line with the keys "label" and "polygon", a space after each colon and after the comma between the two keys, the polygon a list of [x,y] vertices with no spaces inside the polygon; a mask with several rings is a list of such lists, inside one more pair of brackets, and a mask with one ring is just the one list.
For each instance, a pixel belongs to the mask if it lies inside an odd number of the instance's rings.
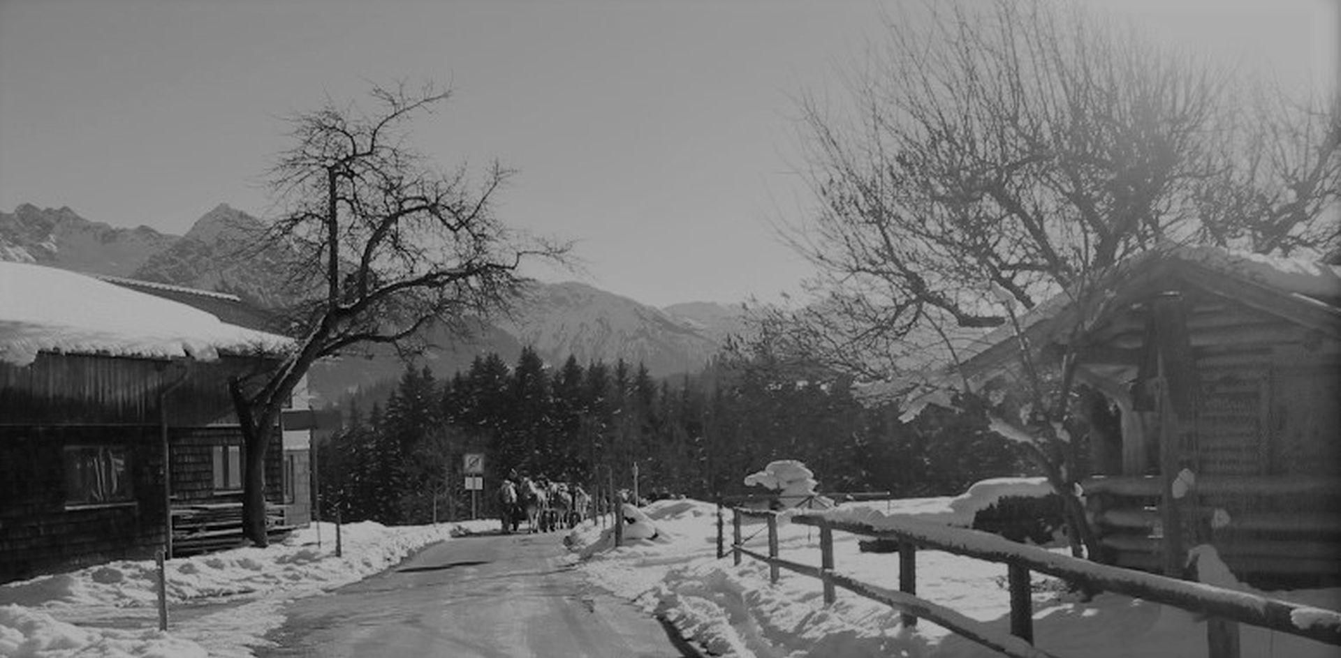
{"label": "wet paved road running between the snow banks", "polygon": [[279,646],[257,655],[696,655],[677,649],[657,620],[587,584],[559,537],[430,545],[385,574],[294,602],[270,634]]}

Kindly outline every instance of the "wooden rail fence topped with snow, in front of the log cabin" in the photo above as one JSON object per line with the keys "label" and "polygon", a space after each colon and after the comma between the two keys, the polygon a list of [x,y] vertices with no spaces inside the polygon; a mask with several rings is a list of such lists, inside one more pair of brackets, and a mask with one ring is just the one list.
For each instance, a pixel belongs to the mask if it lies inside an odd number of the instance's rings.
{"label": "wooden rail fence topped with snow, in front of the log cabin", "polygon": [[[1090,591],[1109,591],[1155,603],[1175,606],[1187,611],[1212,616],[1207,624],[1210,655],[1238,657],[1238,626],[1248,623],[1263,629],[1299,635],[1328,645],[1341,646],[1341,612],[1302,606],[1257,594],[1226,590],[1204,583],[1177,580],[1155,574],[1110,567],[1038,547],[1018,544],[996,535],[963,528],[952,528],[916,519],[881,519],[881,525],[848,519],[843,511],[826,513],[772,512],[732,508],[732,545],[735,564],[740,556],[762,560],[770,566],[770,579],[778,580],[778,570],[786,568],[817,578],[823,583],[825,603],[833,603],[834,587],[842,587],[872,600],[885,603],[904,612],[904,623],[911,626],[917,618],[940,624],[967,639],[1015,658],[1038,658],[1050,654],[1033,643],[1033,602],[1030,599],[1030,571],[1066,579]],[[778,557],[778,517],[791,523],[819,528],[821,566],[813,567]],[[768,555],[743,547],[740,521],[743,517],[764,519],[768,524]],[[885,590],[834,572],[833,531],[865,535],[898,541],[898,588]],[[723,557],[723,523],[717,516],[717,557]],[[1006,635],[970,619],[953,610],[916,598],[916,551],[932,548],[967,557],[1003,563],[1010,584],[1010,627]]]}

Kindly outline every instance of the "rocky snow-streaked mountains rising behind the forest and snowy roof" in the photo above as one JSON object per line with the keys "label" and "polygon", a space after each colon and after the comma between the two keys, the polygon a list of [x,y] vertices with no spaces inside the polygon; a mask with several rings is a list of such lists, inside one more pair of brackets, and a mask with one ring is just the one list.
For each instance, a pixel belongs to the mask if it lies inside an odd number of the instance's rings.
{"label": "rocky snow-streaked mountains rising behind the forest and snowy roof", "polygon": [[[278,248],[252,249],[248,236],[260,220],[228,205],[200,217],[182,236],[149,226],[115,228],[70,208],[23,204],[0,212],[0,260],[27,261],[79,272],[231,292],[259,307],[284,298],[274,267]],[[440,377],[493,351],[515,359],[531,346],[551,365],[573,355],[581,363],[624,359],[657,377],[701,369],[730,334],[744,327],[743,307],[691,302],[656,308],[587,284],[538,283],[508,320],[481,323],[467,342],[436,336],[422,362]],[[398,377],[404,363],[392,354],[320,363],[312,370],[318,398],[341,395]]]}

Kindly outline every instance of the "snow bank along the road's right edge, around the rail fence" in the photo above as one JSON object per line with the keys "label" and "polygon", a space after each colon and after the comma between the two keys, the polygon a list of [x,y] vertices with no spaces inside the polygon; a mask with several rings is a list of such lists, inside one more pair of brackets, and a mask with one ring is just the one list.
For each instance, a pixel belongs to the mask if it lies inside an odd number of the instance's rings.
{"label": "snow bank along the road's right edge, around the rail fence", "polygon": [[[1029,482],[998,482],[961,497],[843,504],[826,516],[876,521],[915,517],[928,527],[953,524],[963,509],[987,507],[996,493],[1027,493]],[[1046,486],[1046,484],[1043,485]],[[1037,489],[1042,490],[1042,489]],[[963,501],[956,511],[952,501]],[[589,557],[581,568],[602,587],[661,615],[681,633],[724,657],[857,658],[919,655],[927,658],[986,658],[994,651],[949,634],[929,622],[904,627],[888,606],[838,590],[838,600],[823,606],[818,580],[783,571],[776,584],[768,568],[748,556],[739,567],[730,555],[731,519],[724,520],[727,556],[716,557],[716,507],[693,500],[658,501],[642,508],[661,531],[657,540],[610,548],[609,528],[586,525],[569,541]],[[968,523],[972,517],[968,516]],[[932,525],[933,524],[933,525]],[[919,524],[921,525],[921,524]],[[767,531],[759,520],[742,527],[744,545],[767,551]],[[881,587],[898,588],[898,557],[862,553],[857,540],[834,533],[839,574]],[[606,541],[606,551],[591,551]],[[783,559],[819,564],[818,532],[780,524]],[[1065,553],[1065,549],[1055,549]],[[1034,575],[1034,637],[1039,649],[1055,655],[1149,658],[1204,655],[1206,620],[1179,608],[1104,594],[1088,603],[1070,600],[1057,580]],[[917,595],[984,622],[1000,633],[1010,629],[1006,567],[940,551],[917,552]],[[1326,610],[1341,610],[1341,590],[1270,592],[1271,596]],[[1297,637],[1240,626],[1243,655],[1334,657],[1336,647]]]}

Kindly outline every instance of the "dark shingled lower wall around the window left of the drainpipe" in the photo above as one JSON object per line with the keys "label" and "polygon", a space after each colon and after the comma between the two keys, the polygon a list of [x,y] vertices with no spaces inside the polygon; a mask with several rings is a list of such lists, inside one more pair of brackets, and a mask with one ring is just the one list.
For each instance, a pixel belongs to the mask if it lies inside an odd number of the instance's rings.
{"label": "dark shingled lower wall around the window left of the drainpipe", "polygon": [[[125,446],[133,500],[67,507],[67,445]],[[0,582],[121,557],[164,541],[162,449],[152,426],[0,426]]]}

